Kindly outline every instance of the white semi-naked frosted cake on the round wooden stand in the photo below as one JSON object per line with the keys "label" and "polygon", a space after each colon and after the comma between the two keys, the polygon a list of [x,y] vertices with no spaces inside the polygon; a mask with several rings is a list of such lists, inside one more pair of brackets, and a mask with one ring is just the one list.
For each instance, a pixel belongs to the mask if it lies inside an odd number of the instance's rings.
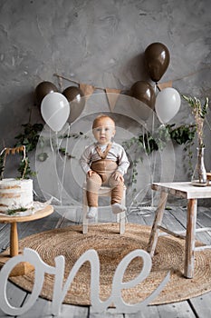
{"label": "white semi-naked frosted cake on the round wooden stand", "polygon": [[0,213],[8,214],[33,207],[33,180],[14,178],[0,181]]}

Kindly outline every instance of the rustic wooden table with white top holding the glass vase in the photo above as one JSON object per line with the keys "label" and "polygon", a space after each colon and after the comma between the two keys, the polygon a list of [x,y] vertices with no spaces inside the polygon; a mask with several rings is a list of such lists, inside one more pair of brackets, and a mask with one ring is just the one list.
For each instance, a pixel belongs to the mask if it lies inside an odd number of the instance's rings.
{"label": "rustic wooden table with white top holding the glass vase", "polygon": [[[205,248],[211,248],[211,246],[195,246],[196,236],[196,224],[197,224],[197,199],[211,198],[211,186],[200,187],[194,186],[188,182],[180,183],[158,183],[152,184],[151,188],[155,191],[160,191],[160,198],[158,203],[158,209],[156,211],[154,223],[152,225],[151,233],[149,236],[148,252],[152,257],[155,253],[156,245],[158,242],[159,230],[164,231],[170,235],[180,237],[186,240],[185,251],[185,264],[184,264],[184,276],[192,278],[194,275],[194,253],[197,250],[203,250]],[[187,199],[187,231],[184,235],[174,233],[164,228],[162,224],[165,205],[167,203],[168,194],[173,194]],[[200,229],[201,231],[207,231],[208,228]]]}

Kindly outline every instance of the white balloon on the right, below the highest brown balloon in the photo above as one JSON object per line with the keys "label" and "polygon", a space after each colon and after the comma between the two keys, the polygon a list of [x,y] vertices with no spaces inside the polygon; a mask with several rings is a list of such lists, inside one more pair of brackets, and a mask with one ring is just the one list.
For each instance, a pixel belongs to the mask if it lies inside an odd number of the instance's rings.
{"label": "white balloon on the right, below the highest brown balloon", "polygon": [[164,88],[156,97],[155,110],[160,123],[167,124],[178,112],[180,94],[172,87]]}

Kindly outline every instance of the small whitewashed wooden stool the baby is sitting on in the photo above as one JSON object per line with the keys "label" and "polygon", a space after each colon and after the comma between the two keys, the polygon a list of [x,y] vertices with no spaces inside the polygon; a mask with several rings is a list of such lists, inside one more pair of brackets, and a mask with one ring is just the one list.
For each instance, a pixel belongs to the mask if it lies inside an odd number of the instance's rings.
{"label": "small whitewashed wooden stool the baby is sitting on", "polygon": [[[100,196],[109,196],[111,195],[111,189],[108,186],[101,186],[99,193]],[[121,204],[126,206],[126,186],[124,186],[123,196],[121,199]],[[86,196],[86,186],[83,186],[83,194],[82,194],[82,233],[88,234],[88,224],[89,219],[86,218],[88,212],[88,205],[87,205],[87,196]],[[117,222],[120,224],[120,234],[125,233],[125,212],[121,212],[117,214]],[[98,216],[95,218],[95,221],[98,222]]]}

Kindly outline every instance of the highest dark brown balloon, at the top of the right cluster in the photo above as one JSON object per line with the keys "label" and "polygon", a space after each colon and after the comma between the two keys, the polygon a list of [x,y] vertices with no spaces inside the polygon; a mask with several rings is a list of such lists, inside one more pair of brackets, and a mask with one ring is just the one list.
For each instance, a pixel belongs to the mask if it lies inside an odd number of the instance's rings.
{"label": "highest dark brown balloon, at the top of the right cluster", "polygon": [[145,50],[145,59],[151,80],[158,83],[168,69],[170,61],[170,54],[167,46],[158,42],[152,43]]}

